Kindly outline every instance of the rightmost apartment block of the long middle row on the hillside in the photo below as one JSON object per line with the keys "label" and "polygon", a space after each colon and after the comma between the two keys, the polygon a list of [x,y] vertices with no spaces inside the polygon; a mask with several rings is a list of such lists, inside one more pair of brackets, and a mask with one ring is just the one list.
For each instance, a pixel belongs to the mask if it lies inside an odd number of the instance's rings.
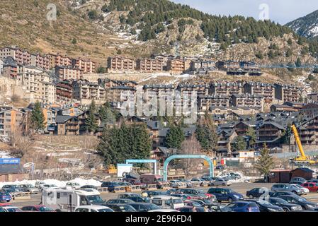
{"label": "rightmost apartment block of the long middle row on the hillside", "polygon": [[301,97],[300,89],[295,85],[274,84],[275,98],[283,102],[298,102]]}

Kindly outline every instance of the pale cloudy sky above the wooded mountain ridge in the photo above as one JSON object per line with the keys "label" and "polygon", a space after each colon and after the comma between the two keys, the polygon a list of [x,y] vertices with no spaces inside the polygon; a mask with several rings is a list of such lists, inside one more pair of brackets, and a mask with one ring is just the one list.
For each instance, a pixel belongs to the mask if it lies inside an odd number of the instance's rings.
{"label": "pale cloudy sky above the wooded mountain ridge", "polygon": [[[317,0],[171,0],[205,13],[266,18],[284,25],[318,10]],[[261,8],[261,9],[260,9]]]}

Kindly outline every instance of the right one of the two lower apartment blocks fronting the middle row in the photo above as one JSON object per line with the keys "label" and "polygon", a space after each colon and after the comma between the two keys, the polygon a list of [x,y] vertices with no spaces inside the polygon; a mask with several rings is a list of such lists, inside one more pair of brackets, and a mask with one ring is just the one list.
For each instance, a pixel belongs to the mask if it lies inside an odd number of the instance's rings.
{"label": "right one of the two lower apartment blocks fronting the middle row", "polygon": [[234,94],[231,96],[231,104],[234,107],[256,107],[263,109],[262,95]]}

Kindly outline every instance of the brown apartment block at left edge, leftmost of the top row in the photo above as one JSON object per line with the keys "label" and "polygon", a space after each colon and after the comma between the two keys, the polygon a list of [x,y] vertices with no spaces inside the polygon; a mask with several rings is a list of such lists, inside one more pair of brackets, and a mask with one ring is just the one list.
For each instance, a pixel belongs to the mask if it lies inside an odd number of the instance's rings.
{"label": "brown apartment block at left edge, leftmost of the top row", "polygon": [[16,60],[17,64],[32,64],[31,54],[18,47],[4,47],[0,49],[0,59],[5,59],[6,57],[12,57]]}

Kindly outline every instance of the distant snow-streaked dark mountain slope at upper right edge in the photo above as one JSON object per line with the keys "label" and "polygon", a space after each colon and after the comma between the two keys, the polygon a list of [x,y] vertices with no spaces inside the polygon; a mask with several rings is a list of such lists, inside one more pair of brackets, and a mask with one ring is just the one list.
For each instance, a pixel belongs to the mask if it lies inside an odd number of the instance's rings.
{"label": "distant snow-streaked dark mountain slope at upper right edge", "polygon": [[318,36],[318,10],[307,16],[298,18],[287,23],[286,26],[292,28],[298,35],[312,38]]}

